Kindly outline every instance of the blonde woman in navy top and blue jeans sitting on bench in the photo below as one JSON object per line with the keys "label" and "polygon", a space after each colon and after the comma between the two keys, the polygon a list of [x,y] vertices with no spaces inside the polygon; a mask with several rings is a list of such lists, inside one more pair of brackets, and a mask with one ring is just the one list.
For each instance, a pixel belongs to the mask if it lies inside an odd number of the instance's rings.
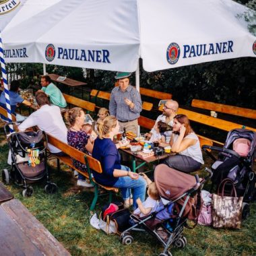
{"label": "blonde woman in navy top and blue jeans sitting on bench", "polygon": [[133,207],[137,207],[138,198],[143,202],[146,194],[146,181],[129,167],[121,165],[121,157],[113,143],[113,137],[119,133],[119,122],[113,116],[106,117],[98,124],[98,138],[94,141],[92,156],[102,164],[102,173],[93,172],[94,179],[102,185],[119,187],[125,205],[129,205],[133,190]]}

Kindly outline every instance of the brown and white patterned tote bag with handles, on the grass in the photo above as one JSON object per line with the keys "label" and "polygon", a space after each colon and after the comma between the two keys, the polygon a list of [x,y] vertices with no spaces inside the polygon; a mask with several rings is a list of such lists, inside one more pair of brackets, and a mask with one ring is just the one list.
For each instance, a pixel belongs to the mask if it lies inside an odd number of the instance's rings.
{"label": "brown and white patterned tote bag with handles, on the grass", "polygon": [[[224,188],[230,183],[230,195],[224,195]],[[220,194],[220,188],[222,193]],[[234,194],[234,196],[232,196]],[[212,194],[212,226],[214,228],[241,228],[243,197],[237,197],[236,188],[230,179],[224,179],[219,187],[218,194]]]}

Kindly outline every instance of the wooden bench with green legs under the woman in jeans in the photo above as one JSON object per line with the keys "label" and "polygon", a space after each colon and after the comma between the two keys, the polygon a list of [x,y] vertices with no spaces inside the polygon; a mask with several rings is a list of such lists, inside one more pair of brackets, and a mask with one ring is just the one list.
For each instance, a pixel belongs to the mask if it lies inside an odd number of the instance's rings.
{"label": "wooden bench with green legs under the woman in jeans", "polygon": [[[116,187],[106,187],[104,185],[100,185],[98,184],[95,179],[92,177],[92,172],[91,170],[94,170],[96,172],[101,173],[102,172],[102,168],[101,168],[101,164],[98,160],[92,158],[92,156],[88,156],[86,154],[84,154],[84,152],[81,152],[71,146],[69,146],[67,143],[64,143],[63,141],[60,141],[59,139],[47,134],[48,137],[48,141],[49,143],[51,143],[53,146],[55,146],[56,148],[59,148],[59,150],[61,150],[62,152],[66,153],[67,156],[56,156],[57,157],[57,168],[58,170],[60,169],[60,164],[59,164],[59,160],[61,160],[63,163],[67,164],[67,166],[71,167],[73,170],[76,170],[77,172],[79,172],[80,174],[84,175],[84,177],[86,177],[87,179],[90,180],[90,182],[92,183],[92,185],[94,185],[94,199],[92,200],[92,204],[90,206],[90,210],[94,210],[94,207],[96,205],[99,193],[98,193],[98,187],[102,187],[103,189],[105,189],[106,191],[108,191],[108,195],[109,195],[109,201],[112,201],[112,193],[117,193],[119,191],[119,189],[117,189]],[[75,160],[82,162],[82,164],[85,164],[88,168],[88,172],[82,172],[81,170],[75,168],[75,166],[73,166],[73,161],[71,158],[74,158]],[[100,194],[100,196],[103,194]]]}

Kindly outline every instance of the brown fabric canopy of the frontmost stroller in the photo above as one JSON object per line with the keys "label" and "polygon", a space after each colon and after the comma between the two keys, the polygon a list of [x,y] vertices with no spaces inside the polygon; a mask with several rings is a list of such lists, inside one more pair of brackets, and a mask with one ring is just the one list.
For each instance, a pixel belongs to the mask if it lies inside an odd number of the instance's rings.
{"label": "brown fabric canopy of the frontmost stroller", "polygon": [[159,164],[154,172],[154,181],[161,197],[174,201],[189,189],[195,187],[195,177]]}

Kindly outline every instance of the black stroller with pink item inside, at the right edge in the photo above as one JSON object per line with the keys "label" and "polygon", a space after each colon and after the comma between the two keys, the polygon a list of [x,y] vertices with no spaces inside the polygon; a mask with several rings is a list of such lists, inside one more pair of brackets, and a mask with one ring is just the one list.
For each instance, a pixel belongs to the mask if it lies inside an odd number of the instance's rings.
{"label": "black stroller with pink item inside, at the right edge", "polygon": [[[247,141],[247,150],[239,152],[236,148],[238,139]],[[223,148],[214,146],[203,146],[203,151],[214,160],[212,165],[212,191],[223,179],[230,179],[235,187],[238,196],[243,196],[243,218],[249,216],[249,204],[255,197],[255,172],[252,170],[255,160],[256,133],[247,129],[233,129],[228,132]],[[208,150],[211,150],[208,151]],[[236,150],[236,151],[235,151]],[[212,152],[219,152],[218,159]],[[239,153],[239,154],[238,154]],[[231,187],[230,187],[231,189]],[[227,193],[230,192],[228,187]]]}

